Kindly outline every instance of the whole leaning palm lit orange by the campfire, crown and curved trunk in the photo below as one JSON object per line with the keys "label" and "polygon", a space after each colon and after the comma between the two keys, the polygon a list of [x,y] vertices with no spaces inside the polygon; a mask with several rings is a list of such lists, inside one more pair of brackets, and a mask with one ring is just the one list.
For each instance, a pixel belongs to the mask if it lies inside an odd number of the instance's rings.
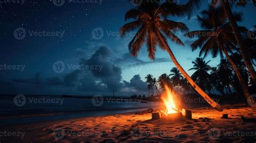
{"label": "whole leaning palm lit orange by the campfire, crown and curved trunk", "polygon": [[[175,3],[172,3],[173,9],[170,15],[178,15],[179,7]],[[220,106],[213,99],[211,99],[206,92],[204,92],[186,73],[183,67],[180,66],[176,57],[169,45],[167,44],[167,38],[171,41],[184,45],[183,42],[174,34],[175,31],[188,31],[187,26],[181,22],[171,21],[166,18],[166,5],[158,5],[153,10],[144,9],[131,9],[126,12],[125,19],[134,19],[135,21],[125,24],[121,29],[121,37],[124,37],[127,32],[138,29],[136,35],[133,37],[129,44],[129,50],[132,56],[138,56],[139,50],[144,43],[147,46],[147,52],[149,52],[149,58],[154,60],[157,46],[160,49],[167,51],[177,66],[178,70],[183,74],[187,81],[194,87],[194,89],[216,110],[223,111],[224,107]]]}

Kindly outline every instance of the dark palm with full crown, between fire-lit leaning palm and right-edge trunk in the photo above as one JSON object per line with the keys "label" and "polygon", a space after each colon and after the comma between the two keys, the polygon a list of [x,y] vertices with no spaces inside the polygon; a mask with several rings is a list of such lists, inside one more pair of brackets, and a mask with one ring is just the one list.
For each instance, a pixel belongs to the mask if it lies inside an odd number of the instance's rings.
{"label": "dark palm with full crown, between fire-lit leaning palm and right-edge trunk", "polygon": [[[216,57],[219,53],[220,56],[223,57],[224,52],[239,78],[242,90],[244,91],[244,96],[247,99],[250,97],[250,92],[247,89],[241,73],[238,68],[236,68],[237,66],[233,59],[228,55],[228,52],[232,53],[232,50],[235,49],[234,44],[236,43],[230,24],[226,22],[226,18],[222,17],[221,9],[210,6],[207,11],[201,13],[204,17],[201,18],[198,16],[198,21],[201,28],[204,30],[191,31],[185,35],[190,38],[199,37],[199,39],[191,45],[192,51],[200,47],[201,50],[199,56],[205,53],[204,57],[207,56],[208,52],[211,52],[213,57]],[[198,35],[198,33],[201,34]]]}

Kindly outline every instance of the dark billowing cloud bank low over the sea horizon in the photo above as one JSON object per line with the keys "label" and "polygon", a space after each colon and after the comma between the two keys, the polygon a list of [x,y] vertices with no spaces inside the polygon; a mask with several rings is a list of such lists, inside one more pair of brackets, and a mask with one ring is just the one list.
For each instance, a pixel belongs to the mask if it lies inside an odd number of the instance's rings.
{"label": "dark billowing cloud bank low over the sea horizon", "polygon": [[[130,82],[122,81],[122,68],[116,64],[118,62],[111,60],[113,59],[112,53],[113,52],[108,47],[99,47],[90,58],[79,59],[80,65],[86,65],[93,68],[74,70],[62,77],[50,77],[42,80],[40,73],[37,73],[33,78],[13,79],[12,81],[22,83],[23,85],[33,84],[38,85],[38,87],[45,86],[45,88],[47,87],[51,90],[53,87],[62,87],[65,92],[77,91],[79,93],[86,92],[92,94],[104,94],[112,91],[124,94],[130,94],[131,92],[145,92],[147,90],[147,84],[140,78],[139,74],[135,75]],[[128,58],[143,62],[143,60],[138,60],[127,54],[123,55],[122,59],[127,60]],[[121,59],[118,60],[120,61]],[[165,58],[160,59],[161,62],[164,62],[165,60]]]}

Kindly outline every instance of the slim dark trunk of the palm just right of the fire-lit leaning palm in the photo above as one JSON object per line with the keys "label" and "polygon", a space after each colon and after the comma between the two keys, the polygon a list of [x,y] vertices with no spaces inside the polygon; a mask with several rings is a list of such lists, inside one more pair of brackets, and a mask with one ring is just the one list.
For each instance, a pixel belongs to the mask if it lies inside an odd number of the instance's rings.
{"label": "slim dark trunk of the palm just right of the fire-lit leaning palm", "polygon": [[237,74],[237,77],[240,81],[240,84],[242,86],[242,91],[244,92],[244,96],[245,96],[245,100],[247,100],[248,97],[250,97],[250,92],[247,89],[247,86],[245,84],[244,79],[242,78],[241,73],[239,72],[237,65],[235,65],[235,63],[233,62],[232,58],[228,55],[227,50],[225,48],[222,48],[228,61],[230,62],[231,66],[233,67],[235,74]]}

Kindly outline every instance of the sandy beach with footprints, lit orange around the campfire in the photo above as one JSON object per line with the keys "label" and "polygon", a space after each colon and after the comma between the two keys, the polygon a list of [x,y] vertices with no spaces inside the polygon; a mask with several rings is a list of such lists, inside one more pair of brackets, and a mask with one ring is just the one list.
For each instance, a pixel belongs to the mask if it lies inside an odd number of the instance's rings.
{"label": "sandy beach with footprints, lit orange around the campfire", "polygon": [[[1,142],[255,142],[255,108],[192,110],[192,120],[151,120],[151,114],[117,114],[1,127]],[[239,108],[238,108],[239,107]],[[226,113],[230,119],[221,119]],[[11,137],[11,138],[10,138]]]}

